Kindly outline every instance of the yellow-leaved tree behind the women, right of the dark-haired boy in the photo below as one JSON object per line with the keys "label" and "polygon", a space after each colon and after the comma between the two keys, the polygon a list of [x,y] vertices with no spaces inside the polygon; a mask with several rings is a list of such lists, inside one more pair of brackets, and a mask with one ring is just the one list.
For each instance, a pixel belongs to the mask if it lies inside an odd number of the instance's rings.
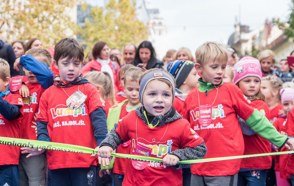
{"label": "yellow-leaved tree behind the women, right of the dark-haired boy", "polygon": [[109,0],[104,8],[92,7],[91,20],[86,18],[85,25],[78,31],[81,43],[86,45],[85,54],[97,41],[121,49],[128,43],[138,44],[146,40],[148,28],[137,19],[135,11],[136,2],[130,0]]}

